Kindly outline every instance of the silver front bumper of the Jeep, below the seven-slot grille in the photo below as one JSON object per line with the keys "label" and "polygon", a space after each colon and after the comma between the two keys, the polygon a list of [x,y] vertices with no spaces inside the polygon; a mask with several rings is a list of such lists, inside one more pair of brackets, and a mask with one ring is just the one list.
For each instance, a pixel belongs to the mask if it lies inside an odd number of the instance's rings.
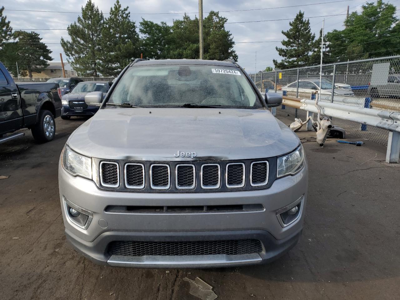
{"label": "silver front bumper of the Jeep, below the seven-slot grille", "polygon": [[[275,180],[265,190],[215,193],[134,193],[100,190],[91,180],[59,168],[60,200],[67,240],[98,264],[132,267],[212,267],[270,262],[298,242],[307,199],[307,165],[296,175]],[[276,212],[303,197],[298,218],[282,226]],[[68,216],[64,198],[92,212],[87,229]],[[262,204],[264,210],[203,213],[116,213],[109,205],[237,205]],[[107,226],[104,226],[106,220]],[[99,222],[100,221],[100,222]],[[102,227],[100,227],[100,225]],[[106,227],[106,228],[104,228]],[[108,254],[113,241],[179,242],[256,239],[262,251],[242,255],[118,256]]]}

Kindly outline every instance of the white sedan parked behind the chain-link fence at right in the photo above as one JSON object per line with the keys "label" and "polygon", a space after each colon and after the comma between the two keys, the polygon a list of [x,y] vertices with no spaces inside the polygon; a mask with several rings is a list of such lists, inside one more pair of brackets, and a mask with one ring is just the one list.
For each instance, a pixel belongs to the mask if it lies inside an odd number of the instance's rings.
{"label": "white sedan parked behind the chain-link fence at right", "polygon": [[[320,90],[320,80],[318,79],[300,79],[299,80],[299,94],[311,94],[316,90]],[[283,86],[281,90],[287,91],[288,95],[293,95],[297,89],[297,81],[288,84],[287,86]],[[332,94],[332,84],[326,81],[321,82],[321,96],[326,98]],[[335,88],[334,95],[337,96],[354,96],[352,90],[344,89],[344,88]]]}

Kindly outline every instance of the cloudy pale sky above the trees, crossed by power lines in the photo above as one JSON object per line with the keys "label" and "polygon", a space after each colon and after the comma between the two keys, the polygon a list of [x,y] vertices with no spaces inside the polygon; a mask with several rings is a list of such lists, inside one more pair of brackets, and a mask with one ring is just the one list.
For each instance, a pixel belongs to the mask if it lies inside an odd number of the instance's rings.
{"label": "cloudy pale sky above the trees, crossed by power lines", "polygon": [[[279,59],[275,50],[276,46],[281,46],[280,42],[263,43],[242,43],[242,42],[261,42],[261,41],[280,41],[283,38],[282,30],[289,28],[290,20],[277,20],[294,18],[299,10],[305,12],[305,17],[326,16],[325,30],[342,29],[345,15],[328,16],[334,14],[346,14],[347,6],[350,6],[350,12],[360,11],[363,0],[348,0],[343,2],[317,4],[337,0],[203,0],[203,10],[220,11],[222,16],[228,18],[228,22],[274,20],[269,22],[252,23],[234,23],[226,24],[234,41],[235,50],[239,56],[239,63],[246,68],[248,73],[264,69],[266,66],[273,66],[272,59]],[[396,2],[398,0],[389,0]],[[152,13],[191,13],[190,16],[197,15],[198,0],[120,0],[122,6],[129,6],[131,18],[140,22],[141,18],[154,22],[165,21],[172,24],[174,18],[180,18],[182,14],[152,14]],[[86,0],[68,0],[54,2],[52,0],[14,0],[3,2],[4,12],[11,21],[14,29],[35,30],[40,33],[45,43],[60,43],[60,38],[68,39],[65,28],[76,20],[76,13],[50,13],[50,12],[20,12],[12,10],[52,10],[63,12],[80,12],[81,6]],[[110,11],[114,4],[112,0],[94,0],[94,3],[102,12]],[[305,6],[306,4],[311,4]],[[394,3],[395,4],[395,3]],[[280,6],[289,6],[287,8],[276,8]],[[268,9],[265,9],[268,8]],[[257,10],[253,10],[257,9]],[[236,12],[222,12],[227,10],[248,10]],[[107,16],[107,15],[105,15]],[[204,13],[204,17],[207,13]],[[322,27],[324,17],[310,18],[311,29],[318,36]],[[58,30],[44,30],[58,29]],[[65,57],[60,44],[48,44],[52,50],[54,62],[60,61],[60,53]],[[255,52],[256,59],[255,59]],[[255,65],[256,62],[256,65]]]}

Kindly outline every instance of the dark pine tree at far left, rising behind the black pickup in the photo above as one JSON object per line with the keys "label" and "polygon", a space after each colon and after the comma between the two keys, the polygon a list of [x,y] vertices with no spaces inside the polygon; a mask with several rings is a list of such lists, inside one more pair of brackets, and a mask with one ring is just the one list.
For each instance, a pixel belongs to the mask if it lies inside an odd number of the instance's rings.
{"label": "dark pine tree at far left, rising behind the black pickup", "polygon": [[50,56],[52,51],[42,43],[42,38],[37,32],[18,30],[14,32],[14,39],[17,42],[12,43],[15,51],[13,55],[18,61],[18,69],[22,77],[28,75],[29,78],[32,78],[32,72],[44,71],[49,66],[47,62],[53,60]]}

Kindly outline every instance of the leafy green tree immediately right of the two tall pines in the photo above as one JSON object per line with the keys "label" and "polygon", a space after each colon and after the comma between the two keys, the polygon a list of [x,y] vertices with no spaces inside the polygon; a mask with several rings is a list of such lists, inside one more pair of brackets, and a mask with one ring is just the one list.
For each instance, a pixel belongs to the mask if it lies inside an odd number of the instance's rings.
{"label": "leafy green tree immediately right of the two tall pines", "polygon": [[145,59],[160,59],[166,48],[168,37],[171,34],[171,26],[166,22],[160,24],[144,20],[140,22],[142,34],[142,47]]}

